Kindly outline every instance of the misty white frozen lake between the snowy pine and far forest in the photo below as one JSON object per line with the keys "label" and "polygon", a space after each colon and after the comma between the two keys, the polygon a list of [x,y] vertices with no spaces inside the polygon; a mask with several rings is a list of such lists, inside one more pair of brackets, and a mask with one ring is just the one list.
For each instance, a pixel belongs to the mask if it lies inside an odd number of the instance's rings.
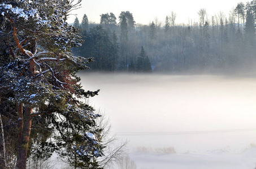
{"label": "misty white frozen lake between the snowy pine and far forest", "polygon": [[[220,165],[225,165],[236,163],[241,157],[230,153],[241,153],[256,144],[254,77],[87,72],[79,75],[86,90],[101,90],[90,103],[107,113],[112,134],[129,140],[132,159],[140,146],[175,148],[177,157],[171,156],[173,159],[167,159],[167,163],[176,161],[178,156],[193,162],[189,154],[224,150],[228,152],[224,157],[231,161],[225,161],[221,155],[218,158]],[[204,157],[199,155],[198,159]],[[141,161],[144,158],[145,155],[136,157]],[[256,166],[256,159],[254,163],[249,168]]]}

